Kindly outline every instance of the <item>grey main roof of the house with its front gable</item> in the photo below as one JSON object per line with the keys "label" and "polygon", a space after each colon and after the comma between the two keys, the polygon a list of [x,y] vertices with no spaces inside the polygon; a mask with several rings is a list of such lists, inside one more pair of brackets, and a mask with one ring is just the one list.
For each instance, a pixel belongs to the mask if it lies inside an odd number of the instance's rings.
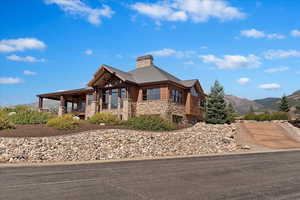
{"label": "grey main roof of the house with its front gable", "polygon": [[97,79],[97,75],[102,71],[102,69],[106,69],[110,73],[115,74],[125,82],[129,81],[136,84],[171,81],[183,87],[190,88],[198,81],[197,79],[181,80],[155,65],[136,68],[129,72],[124,72],[108,65],[102,65],[102,67],[94,74],[94,78],[89,82],[89,86],[92,86],[92,83],[96,81],[95,79]]}

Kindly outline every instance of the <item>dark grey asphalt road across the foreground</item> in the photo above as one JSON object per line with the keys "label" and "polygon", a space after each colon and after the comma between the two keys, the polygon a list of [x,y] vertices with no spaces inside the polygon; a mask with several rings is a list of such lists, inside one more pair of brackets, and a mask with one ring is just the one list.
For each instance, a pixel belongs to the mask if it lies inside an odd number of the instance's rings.
{"label": "dark grey asphalt road across the foreground", "polygon": [[0,168],[0,199],[300,199],[300,151]]}

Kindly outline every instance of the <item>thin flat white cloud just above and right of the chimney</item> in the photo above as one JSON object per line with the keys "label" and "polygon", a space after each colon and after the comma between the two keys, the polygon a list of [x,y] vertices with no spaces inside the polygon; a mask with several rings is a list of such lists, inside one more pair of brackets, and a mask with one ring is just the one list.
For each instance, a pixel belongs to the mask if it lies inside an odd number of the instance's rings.
{"label": "thin flat white cloud just above and right of the chimney", "polygon": [[153,56],[159,56],[159,57],[166,57],[166,56],[175,56],[177,58],[190,58],[191,56],[195,55],[195,51],[177,51],[170,48],[164,48],[157,51],[151,51],[147,54],[151,54]]}

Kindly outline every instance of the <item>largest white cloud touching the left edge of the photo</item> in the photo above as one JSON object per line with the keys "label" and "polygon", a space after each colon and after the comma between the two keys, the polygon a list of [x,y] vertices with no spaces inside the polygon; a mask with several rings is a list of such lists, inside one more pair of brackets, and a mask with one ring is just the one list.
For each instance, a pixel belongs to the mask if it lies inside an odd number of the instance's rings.
{"label": "largest white cloud touching the left edge of the photo", "polygon": [[0,40],[0,53],[25,51],[27,49],[44,49],[44,42],[36,38],[19,38]]}

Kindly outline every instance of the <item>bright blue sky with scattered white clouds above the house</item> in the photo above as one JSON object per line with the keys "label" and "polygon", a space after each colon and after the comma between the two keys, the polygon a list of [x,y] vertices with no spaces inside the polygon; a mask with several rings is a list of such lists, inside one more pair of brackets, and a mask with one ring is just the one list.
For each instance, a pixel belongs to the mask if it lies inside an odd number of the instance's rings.
{"label": "bright blue sky with scattered white clouds above the house", "polygon": [[209,92],[256,99],[300,89],[300,1],[4,0],[0,105],[85,87],[101,64],[139,55]]}

